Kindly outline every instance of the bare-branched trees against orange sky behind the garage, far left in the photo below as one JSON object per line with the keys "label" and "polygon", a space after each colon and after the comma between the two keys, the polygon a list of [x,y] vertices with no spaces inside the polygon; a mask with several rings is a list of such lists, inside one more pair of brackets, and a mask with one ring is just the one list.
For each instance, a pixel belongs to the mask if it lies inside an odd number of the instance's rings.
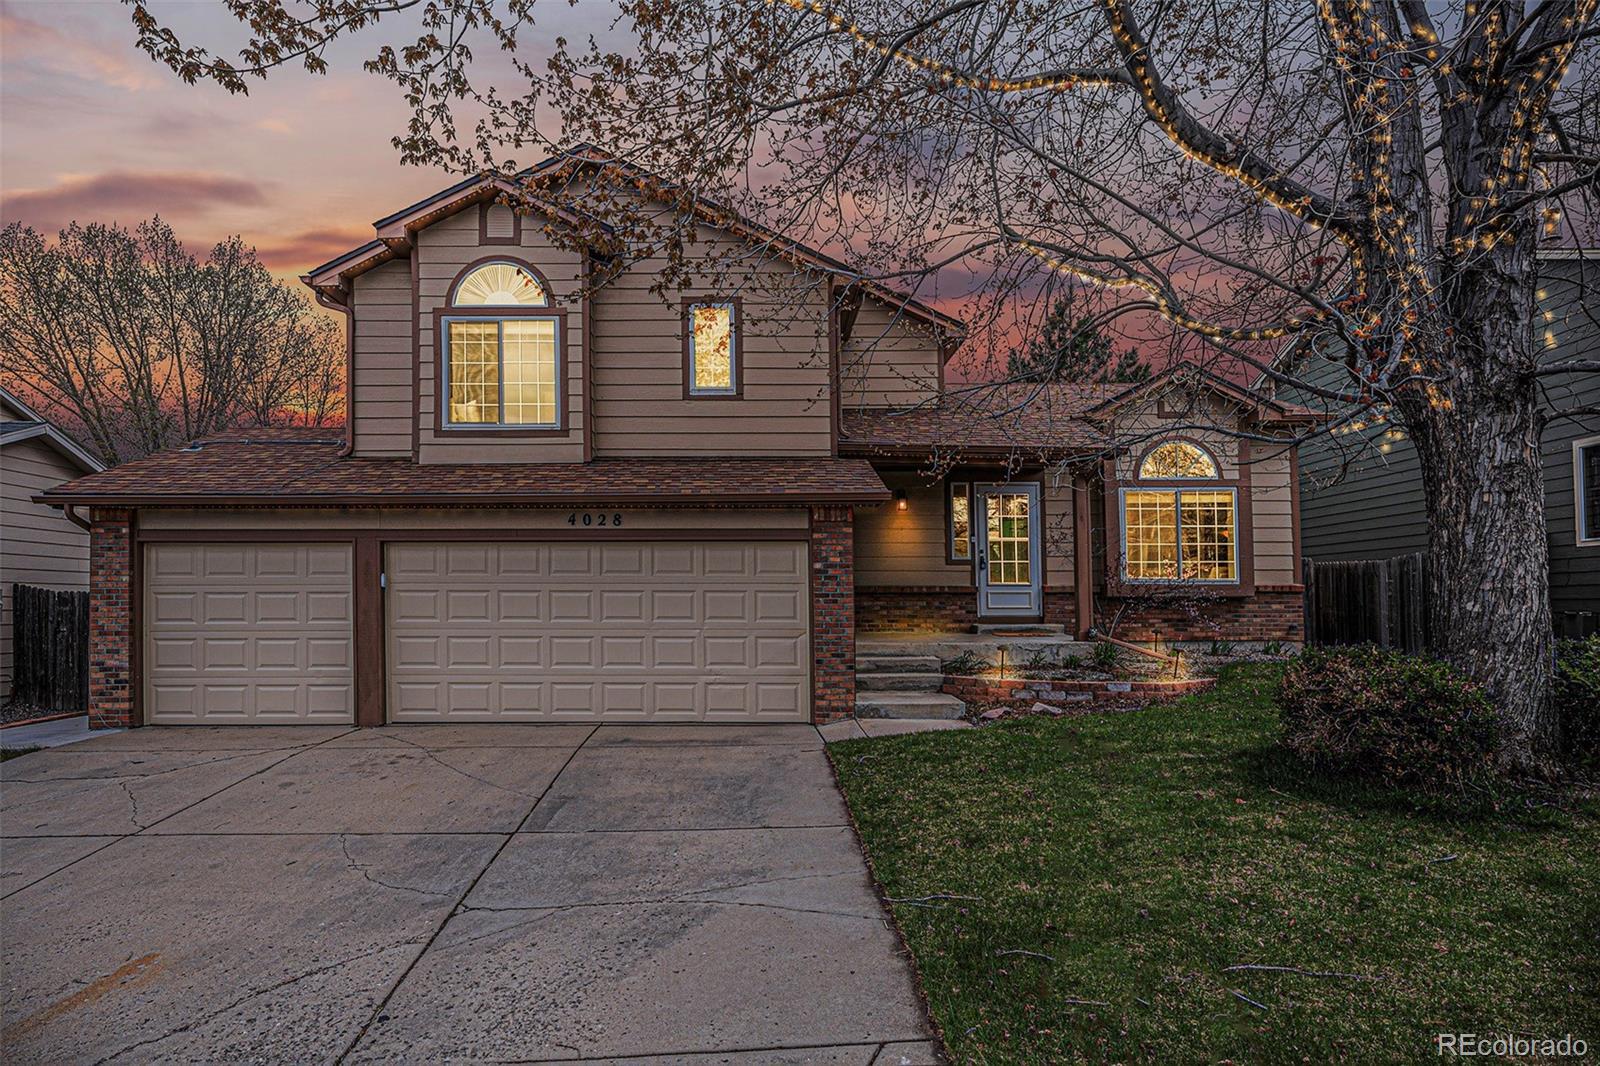
{"label": "bare-branched trees against orange sky behind the garage, far left", "polygon": [[238,237],[202,262],[160,218],[0,230],[0,355],[106,463],[342,408],[338,325]]}

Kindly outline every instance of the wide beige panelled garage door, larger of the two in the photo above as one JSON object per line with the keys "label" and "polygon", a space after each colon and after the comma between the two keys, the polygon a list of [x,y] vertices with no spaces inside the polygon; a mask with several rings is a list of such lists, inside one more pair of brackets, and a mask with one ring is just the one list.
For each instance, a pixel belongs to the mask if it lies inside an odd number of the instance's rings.
{"label": "wide beige panelled garage door, larger of the two", "polygon": [[392,722],[810,719],[806,547],[390,544]]}

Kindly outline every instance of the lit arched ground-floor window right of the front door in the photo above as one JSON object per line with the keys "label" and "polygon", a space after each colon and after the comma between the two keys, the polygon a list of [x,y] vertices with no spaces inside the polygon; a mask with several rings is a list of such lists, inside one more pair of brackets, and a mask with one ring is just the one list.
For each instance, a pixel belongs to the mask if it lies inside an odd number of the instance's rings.
{"label": "lit arched ground-floor window right of the front door", "polygon": [[[1184,440],[1152,448],[1139,464],[1139,480],[1216,475],[1216,461]],[[1238,491],[1123,488],[1122,538],[1126,581],[1238,581]]]}

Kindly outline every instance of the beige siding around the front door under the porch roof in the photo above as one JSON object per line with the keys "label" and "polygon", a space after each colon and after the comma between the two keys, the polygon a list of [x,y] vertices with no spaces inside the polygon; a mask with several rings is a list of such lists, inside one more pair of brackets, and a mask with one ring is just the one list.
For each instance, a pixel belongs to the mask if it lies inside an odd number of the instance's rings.
{"label": "beige siding around the front door under the porch roof", "polygon": [[[952,480],[982,482],[982,472],[958,474]],[[1045,586],[1070,589],[1072,581],[1072,482],[1042,475],[1045,504],[1043,536]],[[893,503],[856,509],[856,584],[973,587],[971,563],[946,562],[944,483],[928,483],[917,472],[883,472],[891,490],[906,490],[906,511]]]}

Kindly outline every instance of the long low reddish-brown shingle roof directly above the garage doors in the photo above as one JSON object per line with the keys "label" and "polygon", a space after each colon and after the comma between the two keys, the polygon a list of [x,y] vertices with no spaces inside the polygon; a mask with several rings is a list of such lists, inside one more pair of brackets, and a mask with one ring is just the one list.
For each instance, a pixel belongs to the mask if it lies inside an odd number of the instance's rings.
{"label": "long low reddish-brown shingle roof directly above the garage doors", "polygon": [[882,503],[864,459],[597,459],[416,464],[341,458],[328,431],[219,435],[40,495],[101,506],[802,504]]}

